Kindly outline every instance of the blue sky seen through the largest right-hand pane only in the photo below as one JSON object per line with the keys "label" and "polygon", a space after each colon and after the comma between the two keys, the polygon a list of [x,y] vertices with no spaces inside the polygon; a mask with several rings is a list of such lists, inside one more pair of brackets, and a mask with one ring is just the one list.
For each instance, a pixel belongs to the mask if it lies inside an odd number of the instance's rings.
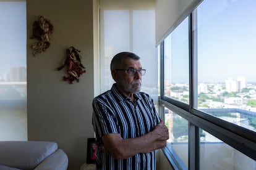
{"label": "blue sky seen through the largest right-hand pane only", "polygon": [[208,0],[198,7],[198,78],[256,82],[256,1]]}

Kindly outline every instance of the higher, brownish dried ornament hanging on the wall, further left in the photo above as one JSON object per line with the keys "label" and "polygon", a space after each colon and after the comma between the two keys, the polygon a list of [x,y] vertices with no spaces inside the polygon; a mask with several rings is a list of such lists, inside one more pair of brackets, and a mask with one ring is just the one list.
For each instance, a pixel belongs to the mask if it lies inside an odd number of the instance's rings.
{"label": "higher, brownish dried ornament hanging on the wall, further left", "polygon": [[38,19],[33,22],[33,34],[32,39],[37,39],[38,42],[32,44],[33,55],[46,51],[48,49],[51,39],[51,34],[53,33],[53,25],[48,19],[44,18],[42,15],[38,16]]}

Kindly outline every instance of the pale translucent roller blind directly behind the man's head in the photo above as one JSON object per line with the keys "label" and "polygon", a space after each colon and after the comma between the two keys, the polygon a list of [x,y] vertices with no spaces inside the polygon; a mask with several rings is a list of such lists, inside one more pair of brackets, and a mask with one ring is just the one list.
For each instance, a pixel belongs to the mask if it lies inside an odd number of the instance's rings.
{"label": "pale translucent roller blind directly behind the man's head", "polygon": [[155,47],[154,0],[100,1],[100,91],[114,83],[110,62],[122,51],[140,56],[146,75],[142,77],[142,92],[158,100],[158,59]]}

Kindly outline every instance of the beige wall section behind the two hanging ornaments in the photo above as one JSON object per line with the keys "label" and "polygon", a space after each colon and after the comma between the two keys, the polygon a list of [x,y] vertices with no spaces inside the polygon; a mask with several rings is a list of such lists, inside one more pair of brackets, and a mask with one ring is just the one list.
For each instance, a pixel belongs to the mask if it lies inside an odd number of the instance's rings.
{"label": "beige wall section behind the two hanging ornaments", "polygon": [[[50,47],[33,57],[32,24],[38,15],[54,26]],[[69,84],[66,67],[56,68],[70,46],[81,51],[87,73]],[[94,137],[93,0],[27,0],[27,110],[28,140],[53,140],[69,157],[69,169],[86,160],[87,138]]]}

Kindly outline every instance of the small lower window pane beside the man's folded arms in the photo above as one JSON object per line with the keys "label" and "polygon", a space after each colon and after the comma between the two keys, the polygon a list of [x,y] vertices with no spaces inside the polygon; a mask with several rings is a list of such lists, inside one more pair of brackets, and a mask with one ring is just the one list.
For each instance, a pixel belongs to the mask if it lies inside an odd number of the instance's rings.
{"label": "small lower window pane beside the man's folded arms", "polygon": [[176,156],[176,160],[181,160],[179,164],[188,166],[188,142],[189,123],[186,119],[174,113],[168,108],[164,108],[164,124],[169,129],[168,148]]}

